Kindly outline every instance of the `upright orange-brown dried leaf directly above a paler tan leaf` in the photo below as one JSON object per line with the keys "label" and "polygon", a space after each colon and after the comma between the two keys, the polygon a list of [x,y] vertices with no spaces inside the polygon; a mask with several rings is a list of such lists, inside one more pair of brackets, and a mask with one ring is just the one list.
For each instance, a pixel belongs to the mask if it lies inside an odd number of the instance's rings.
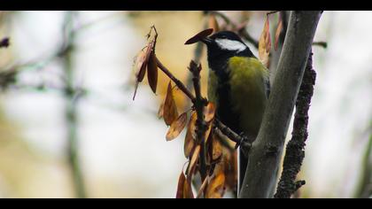
{"label": "upright orange-brown dried leaf directly above a paler tan leaf", "polygon": [[174,102],[171,81],[169,81],[166,101],[164,103],[163,118],[167,126],[170,126],[178,118],[177,106]]}

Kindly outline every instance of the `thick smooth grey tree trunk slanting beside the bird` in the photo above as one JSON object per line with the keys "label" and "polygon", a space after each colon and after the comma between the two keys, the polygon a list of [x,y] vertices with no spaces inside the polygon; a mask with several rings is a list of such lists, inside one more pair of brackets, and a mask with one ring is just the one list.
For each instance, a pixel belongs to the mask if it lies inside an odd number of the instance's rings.
{"label": "thick smooth grey tree trunk slanting beside the bird", "polygon": [[274,85],[239,197],[274,195],[285,135],[321,15],[320,11],[291,12]]}

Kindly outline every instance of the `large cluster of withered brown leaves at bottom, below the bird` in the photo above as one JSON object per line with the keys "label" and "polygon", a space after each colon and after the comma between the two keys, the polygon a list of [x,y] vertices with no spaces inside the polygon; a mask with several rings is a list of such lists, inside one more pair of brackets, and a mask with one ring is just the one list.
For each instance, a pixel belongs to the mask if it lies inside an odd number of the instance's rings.
{"label": "large cluster of withered brown leaves at bottom, below the bird", "polygon": [[[236,151],[222,146],[221,138],[213,132],[213,120],[215,115],[215,106],[213,103],[208,103],[204,109],[204,119],[206,123],[205,141],[198,143],[197,138],[197,112],[191,111],[187,133],[184,141],[184,154],[189,159],[189,164],[185,173],[179,179],[176,197],[205,197],[205,198],[220,198],[223,197],[227,189],[236,189],[236,163],[234,156]],[[202,153],[202,147],[205,149],[205,154]],[[195,174],[198,174],[200,168],[200,158],[205,157],[205,165],[207,175],[205,179],[201,179],[202,184],[198,190],[198,194],[190,194],[192,179]],[[233,169],[231,169],[233,168]],[[232,178],[232,179],[231,179]],[[229,179],[229,181],[227,180]]]}

